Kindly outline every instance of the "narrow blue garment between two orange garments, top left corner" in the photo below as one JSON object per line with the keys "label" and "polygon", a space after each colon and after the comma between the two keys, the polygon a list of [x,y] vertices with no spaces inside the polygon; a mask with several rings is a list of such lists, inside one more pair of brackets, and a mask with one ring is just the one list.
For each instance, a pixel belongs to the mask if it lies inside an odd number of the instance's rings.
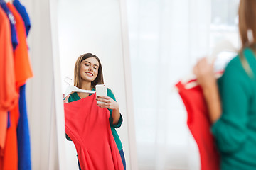
{"label": "narrow blue garment between two orange garments, top left corner", "polygon": [[18,45],[18,39],[17,39],[17,35],[16,35],[16,28],[15,28],[16,20],[15,20],[13,14],[11,13],[11,11],[9,11],[9,8],[7,8],[6,2],[4,0],[0,0],[0,5],[1,5],[2,9],[4,10],[4,12],[6,13],[6,16],[8,16],[8,18],[9,18],[9,23],[11,26],[11,28],[10,28],[11,29],[11,42],[13,45],[13,50],[15,50]]}

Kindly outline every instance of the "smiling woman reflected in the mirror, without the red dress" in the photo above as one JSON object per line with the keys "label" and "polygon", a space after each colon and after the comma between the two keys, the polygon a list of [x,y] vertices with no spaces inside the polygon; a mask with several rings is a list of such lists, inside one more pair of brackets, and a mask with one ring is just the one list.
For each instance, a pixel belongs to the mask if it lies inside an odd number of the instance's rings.
{"label": "smiling woman reflected in the mirror, without the red dress", "polygon": [[[80,55],[75,63],[74,79],[74,86],[77,86],[80,89],[95,91],[96,84],[104,84],[100,59],[91,53]],[[64,103],[78,101],[87,96],[90,96],[90,94],[75,92],[68,95],[67,98],[65,98]],[[119,104],[117,103],[116,99],[114,98],[114,94],[110,89],[107,89],[107,96],[99,96],[96,100],[102,101],[102,103],[97,103],[97,106],[101,108],[108,108],[110,111],[110,128],[125,169],[126,163],[122,143],[119,139],[117,131],[115,130],[115,128],[119,128],[122,124],[122,115],[119,113]],[[70,140],[68,136],[67,139]]]}

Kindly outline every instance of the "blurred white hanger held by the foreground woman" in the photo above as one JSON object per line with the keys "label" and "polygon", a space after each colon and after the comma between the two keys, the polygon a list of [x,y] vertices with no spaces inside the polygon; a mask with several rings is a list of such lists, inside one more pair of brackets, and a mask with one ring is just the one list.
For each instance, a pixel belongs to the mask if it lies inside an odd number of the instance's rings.
{"label": "blurred white hanger held by the foreground woman", "polygon": [[[210,55],[210,57],[208,57],[209,62],[213,62],[213,60],[217,57],[217,55],[223,51],[236,52],[237,49],[235,49],[235,47],[228,40],[223,40],[213,48],[212,54]],[[216,78],[220,76],[221,76],[220,74],[215,74]],[[196,81],[192,81],[188,83],[188,81],[191,81],[194,79],[196,79],[196,75],[193,74],[193,72],[191,72],[190,74],[186,75],[186,77],[183,77],[183,79],[181,79],[181,84],[185,84],[186,89],[191,89],[194,86],[198,85]]]}

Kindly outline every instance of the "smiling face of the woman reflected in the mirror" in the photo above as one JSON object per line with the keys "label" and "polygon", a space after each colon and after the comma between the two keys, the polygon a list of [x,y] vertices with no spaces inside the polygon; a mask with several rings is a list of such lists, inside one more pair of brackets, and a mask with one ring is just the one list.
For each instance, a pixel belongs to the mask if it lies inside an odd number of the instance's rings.
{"label": "smiling face of the woman reflected in the mirror", "polygon": [[80,75],[82,80],[92,82],[96,79],[99,69],[99,62],[95,57],[82,60],[80,64]]}

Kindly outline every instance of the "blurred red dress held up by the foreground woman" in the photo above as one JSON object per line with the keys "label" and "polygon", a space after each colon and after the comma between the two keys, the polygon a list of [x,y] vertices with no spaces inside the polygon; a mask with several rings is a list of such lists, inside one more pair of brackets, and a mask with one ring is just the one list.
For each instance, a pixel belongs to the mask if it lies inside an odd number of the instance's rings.
{"label": "blurred red dress held up by the foreground woman", "polygon": [[201,87],[185,89],[181,82],[178,82],[176,87],[188,113],[188,128],[198,145],[201,170],[220,169],[218,149],[210,132],[210,119]]}

